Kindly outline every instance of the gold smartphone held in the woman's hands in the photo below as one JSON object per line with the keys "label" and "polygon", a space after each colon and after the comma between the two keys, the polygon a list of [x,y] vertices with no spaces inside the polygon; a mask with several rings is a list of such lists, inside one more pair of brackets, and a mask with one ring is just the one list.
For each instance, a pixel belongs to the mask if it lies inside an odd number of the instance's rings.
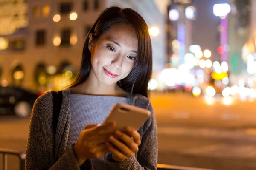
{"label": "gold smartphone held in the woman's hands", "polygon": [[108,114],[103,125],[105,123],[115,122],[115,130],[124,131],[128,126],[132,127],[134,130],[139,130],[150,114],[151,112],[147,109],[124,103],[117,103]]}

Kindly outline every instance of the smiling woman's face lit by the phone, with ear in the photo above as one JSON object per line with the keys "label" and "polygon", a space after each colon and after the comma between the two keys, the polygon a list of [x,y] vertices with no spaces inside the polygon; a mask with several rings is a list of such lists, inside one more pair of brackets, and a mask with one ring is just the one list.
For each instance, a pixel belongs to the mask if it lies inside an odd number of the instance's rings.
{"label": "smiling woman's face lit by the phone, with ear", "polygon": [[111,26],[97,41],[89,38],[92,71],[99,82],[112,85],[131,72],[137,58],[138,40],[134,28],[125,24]]}

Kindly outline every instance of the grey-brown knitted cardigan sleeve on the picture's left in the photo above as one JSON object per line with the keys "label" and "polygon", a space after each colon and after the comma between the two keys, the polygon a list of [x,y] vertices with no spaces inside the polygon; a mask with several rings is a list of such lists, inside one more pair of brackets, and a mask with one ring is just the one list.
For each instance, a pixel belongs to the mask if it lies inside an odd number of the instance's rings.
{"label": "grey-brown knitted cardigan sleeve on the picture's left", "polygon": [[[73,145],[65,151],[58,161],[54,161],[52,112],[52,94],[47,92],[36,100],[32,109],[25,170],[80,170]],[[90,165],[90,160],[84,163],[87,170],[92,169]]]}

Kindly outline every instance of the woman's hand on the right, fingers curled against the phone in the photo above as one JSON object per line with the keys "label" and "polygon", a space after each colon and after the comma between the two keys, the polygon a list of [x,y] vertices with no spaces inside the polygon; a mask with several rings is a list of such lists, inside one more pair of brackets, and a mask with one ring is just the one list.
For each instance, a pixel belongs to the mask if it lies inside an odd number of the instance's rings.
{"label": "woman's hand on the right, fingers curled against the phone", "polygon": [[115,161],[121,162],[138,152],[141,144],[140,134],[131,127],[126,128],[127,134],[116,130],[106,142],[107,149],[112,153]]}

